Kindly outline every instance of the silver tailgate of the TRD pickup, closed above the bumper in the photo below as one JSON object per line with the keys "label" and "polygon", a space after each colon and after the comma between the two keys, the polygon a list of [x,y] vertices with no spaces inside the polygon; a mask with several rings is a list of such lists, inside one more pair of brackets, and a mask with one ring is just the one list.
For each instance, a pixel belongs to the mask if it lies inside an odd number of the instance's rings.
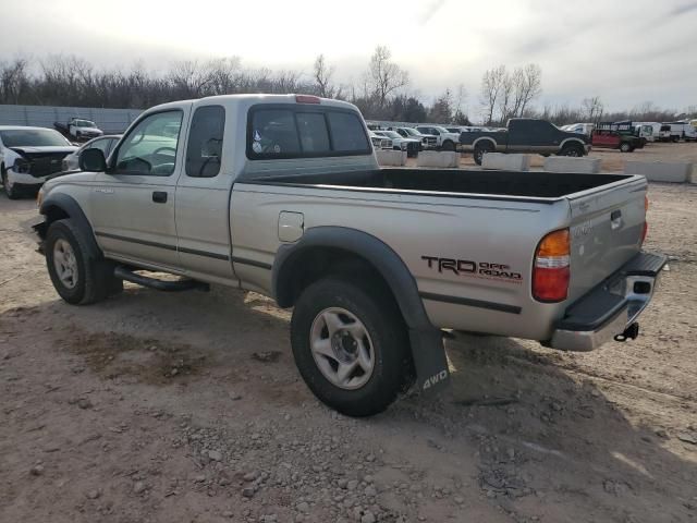
{"label": "silver tailgate of the TRD pickup, closed above the bumper", "polygon": [[631,178],[570,196],[573,302],[641,248],[647,183]]}

